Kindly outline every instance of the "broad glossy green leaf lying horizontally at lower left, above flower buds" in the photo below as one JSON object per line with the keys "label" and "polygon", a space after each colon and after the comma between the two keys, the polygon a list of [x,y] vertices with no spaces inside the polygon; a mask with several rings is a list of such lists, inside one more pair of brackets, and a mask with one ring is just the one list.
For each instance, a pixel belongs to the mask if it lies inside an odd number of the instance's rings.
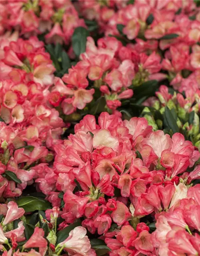
{"label": "broad glossy green leaf lying horizontally at lower left, above flower buds", "polygon": [[50,202],[36,198],[34,196],[24,196],[16,200],[19,207],[24,208],[25,212],[34,212],[36,210],[47,210],[52,208]]}

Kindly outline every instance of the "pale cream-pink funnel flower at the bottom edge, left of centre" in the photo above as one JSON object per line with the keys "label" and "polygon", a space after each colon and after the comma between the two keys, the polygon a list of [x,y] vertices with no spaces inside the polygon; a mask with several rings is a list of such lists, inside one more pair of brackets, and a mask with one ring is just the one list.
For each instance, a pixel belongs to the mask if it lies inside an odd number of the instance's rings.
{"label": "pale cream-pink funnel flower at the bottom edge, left of centre", "polygon": [[88,251],[91,248],[90,240],[86,236],[86,229],[83,227],[76,227],[70,231],[66,240],[58,244],[69,253],[77,253],[82,256],[88,256]]}

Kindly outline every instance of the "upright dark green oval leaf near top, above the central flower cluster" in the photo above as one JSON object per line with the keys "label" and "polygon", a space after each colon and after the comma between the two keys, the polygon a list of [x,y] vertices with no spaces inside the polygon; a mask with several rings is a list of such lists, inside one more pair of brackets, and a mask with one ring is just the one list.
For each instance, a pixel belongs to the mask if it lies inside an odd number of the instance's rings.
{"label": "upright dark green oval leaf near top, above the central flower cluster", "polygon": [[89,35],[90,33],[86,28],[78,27],[74,30],[74,34],[72,35],[72,47],[77,57],[86,51],[86,41]]}

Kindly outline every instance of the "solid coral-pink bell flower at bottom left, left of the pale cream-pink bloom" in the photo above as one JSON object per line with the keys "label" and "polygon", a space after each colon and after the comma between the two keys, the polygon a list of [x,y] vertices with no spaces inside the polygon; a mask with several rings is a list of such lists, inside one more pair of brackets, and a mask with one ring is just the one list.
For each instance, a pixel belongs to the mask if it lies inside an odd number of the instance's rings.
{"label": "solid coral-pink bell flower at bottom left, left of the pale cream-pink bloom", "polygon": [[44,238],[44,230],[42,228],[36,227],[34,233],[29,238],[29,240],[23,245],[23,248],[43,248],[47,246],[47,241]]}

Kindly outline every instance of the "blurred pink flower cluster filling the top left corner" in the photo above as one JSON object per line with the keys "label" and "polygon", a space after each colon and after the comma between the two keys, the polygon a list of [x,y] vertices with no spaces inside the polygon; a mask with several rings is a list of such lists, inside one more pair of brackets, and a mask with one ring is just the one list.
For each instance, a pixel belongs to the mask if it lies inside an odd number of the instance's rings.
{"label": "blurred pink flower cluster filling the top left corner", "polygon": [[0,7],[0,35],[12,29],[26,38],[46,33],[47,43],[69,44],[74,29],[86,27],[70,0],[3,0]]}

